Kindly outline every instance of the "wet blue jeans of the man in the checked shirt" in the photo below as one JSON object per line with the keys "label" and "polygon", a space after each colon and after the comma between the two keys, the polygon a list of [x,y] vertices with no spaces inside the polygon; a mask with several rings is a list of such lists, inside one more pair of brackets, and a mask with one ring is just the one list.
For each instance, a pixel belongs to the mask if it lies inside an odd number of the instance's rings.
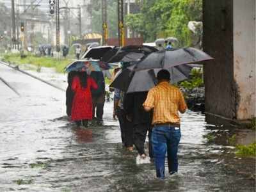
{"label": "wet blue jeans of the man in the checked shirt", "polygon": [[155,125],[152,130],[152,147],[156,165],[156,176],[164,179],[164,161],[167,151],[170,172],[178,172],[178,146],[180,128],[170,125]]}

